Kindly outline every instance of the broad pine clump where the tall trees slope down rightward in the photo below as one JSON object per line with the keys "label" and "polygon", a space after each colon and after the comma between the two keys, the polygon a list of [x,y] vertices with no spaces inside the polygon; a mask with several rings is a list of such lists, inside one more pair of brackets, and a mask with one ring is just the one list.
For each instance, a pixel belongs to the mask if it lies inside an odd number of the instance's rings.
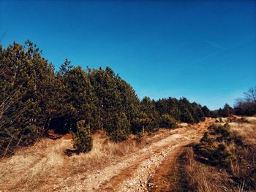
{"label": "broad pine clump where the tall trees slope down rightward", "polygon": [[89,69],[89,78],[96,99],[93,130],[106,128],[116,113],[124,113],[129,122],[135,121],[139,113],[139,99],[133,88],[107,67]]}

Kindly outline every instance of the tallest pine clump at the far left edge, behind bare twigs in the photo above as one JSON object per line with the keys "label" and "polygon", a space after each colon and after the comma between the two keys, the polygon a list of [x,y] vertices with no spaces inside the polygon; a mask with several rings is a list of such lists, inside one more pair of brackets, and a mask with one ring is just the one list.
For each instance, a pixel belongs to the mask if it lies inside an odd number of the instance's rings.
{"label": "tallest pine clump at the far left edge, behind bare twigs", "polygon": [[42,136],[47,110],[52,107],[53,66],[39,48],[27,41],[0,49],[0,152],[27,145]]}

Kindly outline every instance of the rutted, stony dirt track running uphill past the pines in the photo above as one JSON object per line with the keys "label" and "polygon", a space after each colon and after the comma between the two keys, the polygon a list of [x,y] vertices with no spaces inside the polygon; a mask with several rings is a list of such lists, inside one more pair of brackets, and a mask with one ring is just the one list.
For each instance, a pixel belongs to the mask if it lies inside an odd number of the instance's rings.
{"label": "rutted, stony dirt track running uphill past the pines", "polygon": [[75,183],[69,178],[62,181],[66,185],[55,188],[55,191],[148,191],[148,185],[151,185],[148,180],[151,180],[162,162],[167,157],[175,157],[184,145],[198,140],[210,123],[211,120],[208,119],[183,132],[177,131],[176,134],[151,143],[105,169],[86,175],[75,175]]}

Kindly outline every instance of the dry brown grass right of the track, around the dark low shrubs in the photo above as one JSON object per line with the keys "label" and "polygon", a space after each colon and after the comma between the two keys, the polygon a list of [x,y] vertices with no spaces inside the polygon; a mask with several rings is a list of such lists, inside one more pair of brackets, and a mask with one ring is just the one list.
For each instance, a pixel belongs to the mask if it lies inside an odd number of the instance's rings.
{"label": "dry brown grass right of the track, around the dark low shrubs", "polygon": [[[196,161],[192,147],[187,149],[183,171],[187,175],[190,191],[245,191],[252,182],[252,170],[256,169],[256,117],[229,124],[230,131],[241,136],[245,147],[236,149],[236,161],[232,162],[231,170],[228,171]],[[231,176],[237,178],[236,183]]]}

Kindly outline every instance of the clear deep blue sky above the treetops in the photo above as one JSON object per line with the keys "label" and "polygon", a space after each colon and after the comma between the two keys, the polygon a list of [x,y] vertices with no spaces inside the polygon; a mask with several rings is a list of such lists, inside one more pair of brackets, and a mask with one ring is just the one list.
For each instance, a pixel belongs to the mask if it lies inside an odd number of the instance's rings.
{"label": "clear deep blue sky above the treetops", "polygon": [[30,39],[56,68],[110,66],[138,96],[211,109],[256,85],[256,1],[5,1],[1,44]]}

